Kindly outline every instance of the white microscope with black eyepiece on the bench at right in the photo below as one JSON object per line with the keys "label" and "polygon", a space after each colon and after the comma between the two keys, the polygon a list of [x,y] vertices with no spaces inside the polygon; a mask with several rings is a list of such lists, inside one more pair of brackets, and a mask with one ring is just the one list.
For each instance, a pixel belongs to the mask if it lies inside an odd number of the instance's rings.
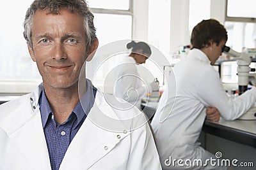
{"label": "white microscope with black eyepiece on the bench at right", "polygon": [[[249,81],[252,85],[256,85],[256,73],[250,73],[250,71],[255,71],[255,69],[250,68],[252,58],[248,53],[236,52],[228,46],[222,47],[222,52],[234,57],[237,61],[237,76],[238,76],[238,92],[239,95],[243,94],[248,90]],[[244,115],[239,117],[240,120],[256,120],[256,107],[253,106]]]}

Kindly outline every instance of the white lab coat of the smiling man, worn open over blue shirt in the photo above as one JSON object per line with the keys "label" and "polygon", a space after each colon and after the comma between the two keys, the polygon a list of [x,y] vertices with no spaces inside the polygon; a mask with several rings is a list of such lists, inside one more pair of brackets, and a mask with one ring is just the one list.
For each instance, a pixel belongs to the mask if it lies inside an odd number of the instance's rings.
{"label": "white lab coat of the smiling man, worn open over blue shirt", "polygon": [[[42,85],[31,94],[0,106],[1,170],[51,169],[38,104],[41,92]],[[130,131],[136,122],[131,120],[131,124],[122,124],[120,120],[138,114],[138,109],[132,108],[128,116],[125,111],[111,108],[105,97],[97,91],[92,110],[70,143],[60,170],[161,169],[148,124]],[[104,122],[109,119],[102,118],[104,115],[100,115],[99,110],[108,118],[116,118],[119,123],[116,128],[124,131],[108,129],[111,122]],[[145,121],[143,119],[140,117],[140,121]]]}

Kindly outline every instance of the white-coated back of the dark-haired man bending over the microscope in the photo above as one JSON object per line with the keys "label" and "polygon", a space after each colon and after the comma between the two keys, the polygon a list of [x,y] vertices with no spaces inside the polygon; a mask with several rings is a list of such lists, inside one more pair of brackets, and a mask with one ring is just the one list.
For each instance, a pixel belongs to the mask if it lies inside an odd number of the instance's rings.
{"label": "white-coated back of the dark-haired man bending over the microscope", "polygon": [[[189,70],[184,71],[184,68],[188,67]],[[196,93],[200,90],[198,81],[204,81],[200,80],[200,77],[204,78],[204,74],[209,72],[218,76],[209,64],[205,64],[199,58],[188,56],[187,59],[175,65],[170,77],[167,78],[168,89],[159,101],[159,103],[164,103],[167,99],[167,103],[166,105],[159,104],[151,122],[162,164],[170,156],[173,159],[193,160],[196,158],[193,152],[188,151],[195,150],[195,147],[200,145],[196,143],[196,140],[206,116],[205,105]],[[184,152],[187,153],[180,155]]]}

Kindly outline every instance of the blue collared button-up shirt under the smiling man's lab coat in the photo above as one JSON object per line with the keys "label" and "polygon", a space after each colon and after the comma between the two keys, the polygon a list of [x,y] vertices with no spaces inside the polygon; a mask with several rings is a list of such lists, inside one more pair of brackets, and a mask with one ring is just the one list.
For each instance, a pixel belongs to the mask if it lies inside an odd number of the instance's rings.
{"label": "blue collared button-up shirt under the smiling man's lab coat", "polygon": [[51,106],[45,96],[44,90],[42,90],[39,105],[52,169],[60,168],[68,146],[76,136],[86,115],[88,115],[93,106],[97,89],[91,84],[89,85],[88,81],[86,81],[86,87],[86,94],[81,99],[83,107],[81,106],[81,102],[79,102],[63,124],[58,124],[54,119]]}

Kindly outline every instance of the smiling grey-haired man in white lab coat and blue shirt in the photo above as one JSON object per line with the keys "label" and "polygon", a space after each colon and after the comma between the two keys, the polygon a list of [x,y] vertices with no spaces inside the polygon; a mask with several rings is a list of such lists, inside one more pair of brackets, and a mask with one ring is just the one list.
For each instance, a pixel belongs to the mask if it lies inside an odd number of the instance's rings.
{"label": "smiling grey-haired man in white lab coat and blue shirt", "polygon": [[34,1],[24,38],[43,83],[0,106],[0,169],[161,169],[148,124],[122,122],[138,109],[115,110],[81,71],[98,46],[84,0]]}

